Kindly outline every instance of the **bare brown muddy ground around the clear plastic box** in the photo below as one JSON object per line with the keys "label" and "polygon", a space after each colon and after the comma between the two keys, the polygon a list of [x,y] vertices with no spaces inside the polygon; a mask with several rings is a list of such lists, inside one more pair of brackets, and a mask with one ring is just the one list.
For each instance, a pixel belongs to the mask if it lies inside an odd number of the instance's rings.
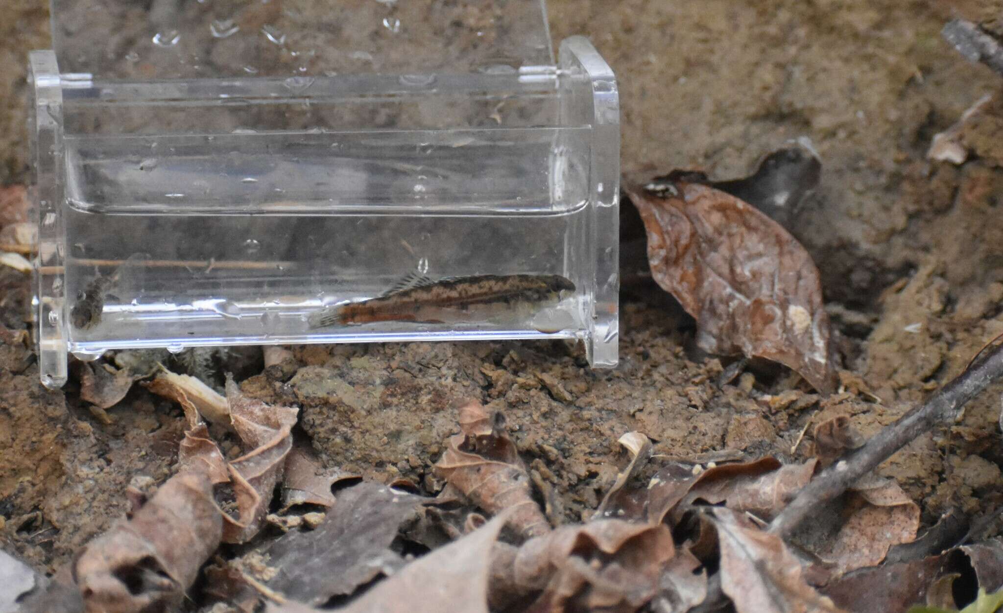
{"label": "bare brown muddy ground around the clear plastic box", "polygon": [[[618,74],[628,177],[677,168],[744,176],[764,154],[810,138],[821,184],[788,228],[822,273],[843,391],[819,397],[789,371],[757,364],[719,384],[729,360],[701,354],[693,321],[642,279],[624,287],[612,371],[590,370],[581,348],[563,343],[314,346],[296,349],[291,378],[246,380],[249,393],[303,407],[301,424],[327,463],[433,493],[429,468],[455,430],[451,407],[473,396],[505,409],[552,521],[577,521],[613,482],[628,430],[651,436],[656,453],[705,463],[804,456],[809,422],[849,414],[871,434],[1003,332],[1003,109],[979,127],[966,164],[925,159],[936,132],[1003,85],[940,29],[955,14],[1003,14],[998,3],[549,4],[555,39],[589,35]],[[13,69],[0,79],[0,182],[10,184],[26,178],[18,70],[26,48],[45,46],[47,24],[38,0],[4,7],[0,65]],[[629,205],[623,217],[625,241],[640,237]],[[625,253],[625,268],[637,264]],[[25,325],[27,283],[0,269],[7,328]],[[172,473],[182,414],[137,386],[105,424],[72,383],[46,391],[31,356],[0,340],[0,546],[51,571],[124,513],[136,476]],[[926,524],[999,504],[989,495],[1003,487],[1000,391],[883,466]]]}

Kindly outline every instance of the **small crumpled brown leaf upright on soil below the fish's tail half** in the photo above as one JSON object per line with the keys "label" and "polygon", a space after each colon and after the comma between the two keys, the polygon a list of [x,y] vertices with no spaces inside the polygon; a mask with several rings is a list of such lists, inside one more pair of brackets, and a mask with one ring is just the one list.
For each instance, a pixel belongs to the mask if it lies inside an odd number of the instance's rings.
{"label": "small crumpled brown leaf upright on soil below the fish's tail half", "polygon": [[512,509],[511,525],[524,538],[550,532],[530,496],[530,476],[500,413],[492,417],[479,402],[470,401],[459,409],[459,425],[462,433],[449,439],[435,474],[489,514]]}

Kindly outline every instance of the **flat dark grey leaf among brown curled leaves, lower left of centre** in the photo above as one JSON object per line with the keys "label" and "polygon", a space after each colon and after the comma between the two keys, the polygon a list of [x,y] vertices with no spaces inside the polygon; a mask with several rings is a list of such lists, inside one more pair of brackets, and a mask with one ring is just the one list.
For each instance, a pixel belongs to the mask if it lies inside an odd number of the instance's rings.
{"label": "flat dark grey leaf among brown curled leaves, lower left of centre", "polygon": [[290,532],[268,549],[269,566],[278,569],[268,587],[293,600],[321,605],[381,574],[391,575],[404,560],[390,544],[422,502],[421,497],[374,483],[340,492],[316,530]]}

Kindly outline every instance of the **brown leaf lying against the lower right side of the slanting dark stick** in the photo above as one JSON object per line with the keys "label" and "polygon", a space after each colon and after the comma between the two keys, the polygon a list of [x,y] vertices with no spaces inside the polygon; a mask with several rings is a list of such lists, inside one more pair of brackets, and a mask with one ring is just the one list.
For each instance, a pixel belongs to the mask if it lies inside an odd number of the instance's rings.
{"label": "brown leaf lying against the lower right side of the slanting dark stick", "polygon": [[913,541],[919,528],[920,508],[899,484],[872,478],[830,504],[796,539],[842,575],[879,564],[892,546]]}

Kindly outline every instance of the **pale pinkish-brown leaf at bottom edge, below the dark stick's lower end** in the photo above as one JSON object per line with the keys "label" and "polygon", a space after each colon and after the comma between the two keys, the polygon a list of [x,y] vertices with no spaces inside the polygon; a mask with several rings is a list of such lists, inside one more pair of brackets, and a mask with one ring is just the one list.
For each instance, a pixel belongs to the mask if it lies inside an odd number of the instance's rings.
{"label": "pale pinkish-brown leaf at bottom edge, below the dark stick's lower end", "polygon": [[779,537],[730,509],[711,513],[721,547],[721,589],[738,613],[840,611],[808,586],[800,562]]}

